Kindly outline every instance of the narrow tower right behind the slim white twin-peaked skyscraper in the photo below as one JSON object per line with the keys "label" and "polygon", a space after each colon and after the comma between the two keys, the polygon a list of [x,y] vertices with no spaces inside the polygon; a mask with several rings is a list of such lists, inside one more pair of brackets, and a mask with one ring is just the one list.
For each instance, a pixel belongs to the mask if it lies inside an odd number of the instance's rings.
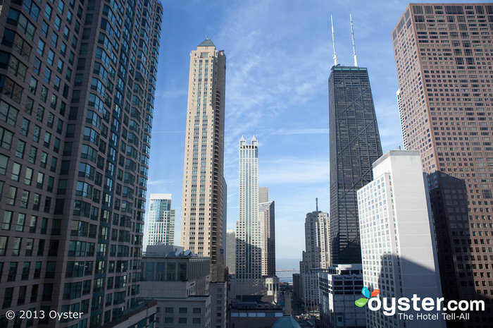
{"label": "narrow tower right behind the slim white twin-peaked skyscraper", "polygon": [[258,224],[260,224],[261,235],[262,275],[275,276],[275,205],[273,201],[258,203]]}

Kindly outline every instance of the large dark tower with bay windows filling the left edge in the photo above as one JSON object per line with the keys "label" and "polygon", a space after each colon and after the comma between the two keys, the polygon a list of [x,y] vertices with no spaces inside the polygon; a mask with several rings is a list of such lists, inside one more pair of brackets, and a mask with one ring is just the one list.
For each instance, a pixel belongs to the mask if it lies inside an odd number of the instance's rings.
{"label": "large dark tower with bay windows filling the left edge", "polygon": [[161,16],[154,0],[3,1],[0,299],[83,315],[0,327],[138,311]]}

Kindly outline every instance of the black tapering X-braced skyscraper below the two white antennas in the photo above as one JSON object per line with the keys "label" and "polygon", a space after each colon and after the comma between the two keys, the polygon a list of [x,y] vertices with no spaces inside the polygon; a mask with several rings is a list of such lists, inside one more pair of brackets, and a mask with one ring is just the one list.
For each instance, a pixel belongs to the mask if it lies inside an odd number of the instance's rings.
{"label": "black tapering X-braced skyscraper below the two white antennas", "polygon": [[330,265],[361,263],[356,191],[382,156],[366,68],[332,66],[329,132]]}

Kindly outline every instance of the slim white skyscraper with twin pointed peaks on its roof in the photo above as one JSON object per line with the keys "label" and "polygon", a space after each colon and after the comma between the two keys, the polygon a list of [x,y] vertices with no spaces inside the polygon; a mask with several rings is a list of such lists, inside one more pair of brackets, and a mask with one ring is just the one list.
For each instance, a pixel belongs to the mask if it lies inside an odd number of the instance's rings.
{"label": "slim white skyscraper with twin pointed peaks on its roof", "polygon": [[239,140],[239,217],[236,221],[236,277],[262,276],[261,227],[258,221],[258,141]]}

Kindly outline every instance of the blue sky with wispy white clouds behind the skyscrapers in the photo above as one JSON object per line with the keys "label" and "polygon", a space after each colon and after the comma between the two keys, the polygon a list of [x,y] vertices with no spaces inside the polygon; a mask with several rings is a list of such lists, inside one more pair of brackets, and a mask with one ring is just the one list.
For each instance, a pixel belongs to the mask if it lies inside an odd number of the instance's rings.
{"label": "blue sky with wispy white clouds behind the skyscrapers", "polygon": [[[468,1],[449,1],[468,2]],[[329,211],[330,15],[339,63],[367,67],[383,151],[402,145],[390,33],[406,1],[163,1],[147,196],[172,193],[179,245],[189,52],[210,35],[224,49],[227,226],[238,217],[238,142],[256,135],[258,186],[275,200],[277,258],[301,258],[307,212]],[[148,202],[149,207],[149,202]],[[146,239],[144,238],[144,243]]]}

